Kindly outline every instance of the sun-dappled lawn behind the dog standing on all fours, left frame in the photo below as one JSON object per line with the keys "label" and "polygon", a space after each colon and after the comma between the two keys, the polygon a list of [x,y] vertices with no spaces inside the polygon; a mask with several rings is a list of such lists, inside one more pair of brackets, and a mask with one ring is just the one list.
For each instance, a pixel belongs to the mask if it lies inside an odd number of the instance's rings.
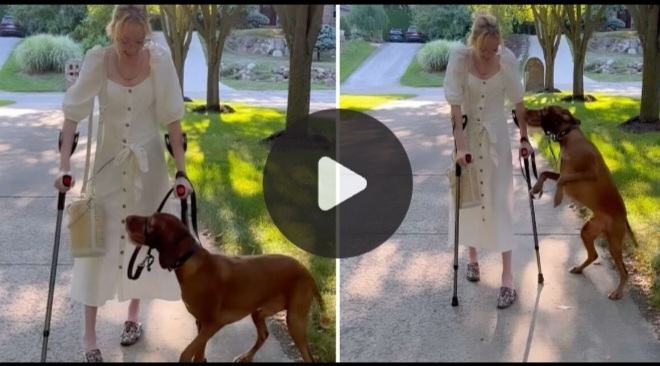
{"label": "sun-dappled lawn behind the dog standing on all fours, left frame", "polygon": [[[300,260],[319,286],[331,327],[318,326],[312,307],[309,338],[317,360],[335,361],[335,260],[311,255],[289,242],[273,224],[263,199],[262,173],[269,149],[259,143],[285,125],[278,109],[232,104],[231,114],[197,114],[187,103],[186,170],[198,193],[199,219],[227,255],[281,253]],[[170,159],[169,163],[173,163]]]}

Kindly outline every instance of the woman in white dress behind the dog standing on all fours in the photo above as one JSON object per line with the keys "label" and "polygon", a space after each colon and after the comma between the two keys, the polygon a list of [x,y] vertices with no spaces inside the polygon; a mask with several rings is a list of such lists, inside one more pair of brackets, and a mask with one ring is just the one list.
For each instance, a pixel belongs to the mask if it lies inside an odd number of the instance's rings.
{"label": "woman in white dress behind the dog standing on all fours", "polygon": [[142,334],[140,299],[180,299],[174,274],[160,266],[145,271],[137,281],[129,280],[126,273],[134,246],[128,241],[124,219],[155,212],[171,187],[161,126],[167,126],[172,137],[177,168],[174,184],[187,188],[179,198],[190,193],[180,125],[184,113],[181,88],[169,52],[151,42],[145,45],[151,33],[146,6],[116,6],[106,31],[112,45],[87,52],[78,80],[64,96],[60,174],[55,181],[60,192],[69,189],[62,176],[70,175],[73,135],[98,95],[102,134],[90,188],[105,214],[107,250],[102,257],[75,258],[71,285],[71,297],[85,305],[85,360],[90,362],[103,360],[96,344],[96,314],[107,300],[115,296],[119,301],[131,300],[121,344],[132,345]]}

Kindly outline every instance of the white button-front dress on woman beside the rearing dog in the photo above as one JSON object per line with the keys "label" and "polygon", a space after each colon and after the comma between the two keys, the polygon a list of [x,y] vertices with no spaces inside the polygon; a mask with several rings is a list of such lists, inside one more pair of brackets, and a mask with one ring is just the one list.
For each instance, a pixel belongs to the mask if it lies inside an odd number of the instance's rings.
{"label": "white button-front dress on woman beside the rearing dog", "polygon": [[[482,80],[468,72],[471,50],[455,49],[445,76],[445,98],[468,117],[465,133],[476,169],[481,204],[459,210],[459,243],[500,252],[515,249],[513,240],[513,167],[507,116],[523,100],[513,53],[501,47],[500,70]],[[508,108],[505,98],[509,100]],[[453,163],[452,163],[453,164]],[[451,192],[451,190],[450,190]],[[451,195],[451,194],[450,194]],[[449,243],[454,243],[455,197],[450,197]]]}

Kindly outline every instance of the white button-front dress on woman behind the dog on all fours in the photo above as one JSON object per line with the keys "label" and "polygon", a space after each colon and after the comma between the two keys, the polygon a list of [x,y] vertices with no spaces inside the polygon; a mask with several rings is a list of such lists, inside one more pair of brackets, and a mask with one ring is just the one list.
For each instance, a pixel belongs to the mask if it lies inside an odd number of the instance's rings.
{"label": "white button-front dress on woman behind the dog on all fours", "polygon": [[[145,47],[149,49],[151,71],[143,82],[126,87],[107,79],[106,48],[97,46],[85,55],[78,80],[64,96],[64,116],[76,122],[87,118],[93,98],[98,96],[102,125],[95,173],[90,175],[98,174],[94,193],[105,214],[106,254],[75,258],[71,284],[71,297],[86,305],[101,306],[115,297],[119,301],[180,299],[176,276],[160,267],[156,250],[152,250],[155,261],[151,271],[145,269],[138,280],[127,276],[135,246],[129,242],[124,219],[153,214],[171,188],[160,128],[180,120],[184,113],[169,51],[154,43]],[[176,202],[168,200],[163,211],[179,216]],[[140,250],[136,268],[146,252],[146,247]]]}

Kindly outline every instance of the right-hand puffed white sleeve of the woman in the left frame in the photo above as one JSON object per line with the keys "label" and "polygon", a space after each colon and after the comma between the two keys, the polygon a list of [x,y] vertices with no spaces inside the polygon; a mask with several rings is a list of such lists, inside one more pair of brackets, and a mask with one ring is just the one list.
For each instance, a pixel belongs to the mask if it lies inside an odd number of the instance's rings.
{"label": "right-hand puffed white sleeve of the woman in the left frame", "polygon": [[152,42],[149,52],[156,94],[156,120],[167,126],[181,120],[185,111],[179,77],[169,50]]}

